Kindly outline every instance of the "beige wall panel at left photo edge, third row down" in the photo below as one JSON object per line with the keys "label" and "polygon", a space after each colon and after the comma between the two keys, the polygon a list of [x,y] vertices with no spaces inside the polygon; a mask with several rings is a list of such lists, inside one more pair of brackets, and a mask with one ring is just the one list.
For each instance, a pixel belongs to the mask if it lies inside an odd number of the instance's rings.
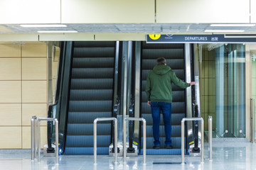
{"label": "beige wall panel at left photo edge, third row down", "polygon": [[0,81],[0,103],[21,103],[21,81]]}

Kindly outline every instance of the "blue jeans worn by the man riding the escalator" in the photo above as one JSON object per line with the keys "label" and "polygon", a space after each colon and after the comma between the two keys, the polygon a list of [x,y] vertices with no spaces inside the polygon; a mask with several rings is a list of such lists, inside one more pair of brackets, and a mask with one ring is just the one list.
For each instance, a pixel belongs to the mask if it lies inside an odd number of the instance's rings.
{"label": "blue jeans worn by the man riding the escalator", "polygon": [[171,145],[171,103],[151,102],[151,113],[153,118],[154,145],[160,145],[160,113],[164,115],[164,131],[166,134],[165,145]]}

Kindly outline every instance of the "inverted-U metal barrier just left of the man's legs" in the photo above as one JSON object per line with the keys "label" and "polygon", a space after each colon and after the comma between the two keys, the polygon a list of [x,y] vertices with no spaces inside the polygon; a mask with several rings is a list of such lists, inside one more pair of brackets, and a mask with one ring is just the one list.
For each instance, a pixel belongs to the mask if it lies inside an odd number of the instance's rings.
{"label": "inverted-U metal barrier just left of the man's legs", "polygon": [[126,121],[142,121],[143,122],[143,164],[146,164],[146,120],[144,118],[124,118],[124,139],[123,139],[123,148],[124,148],[124,163],[126,163]]}

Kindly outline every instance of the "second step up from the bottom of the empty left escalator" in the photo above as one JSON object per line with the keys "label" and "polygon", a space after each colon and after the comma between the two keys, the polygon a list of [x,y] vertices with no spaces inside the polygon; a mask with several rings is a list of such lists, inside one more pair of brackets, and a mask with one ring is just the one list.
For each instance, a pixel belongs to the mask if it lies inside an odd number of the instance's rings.
{"label": "second step up from the bottom of the empty left escalator", "polygon": [[[97,147],[109,147],[110,135],[97,135]],[[67,135],[66,147],[93,147],[93,135]]]}

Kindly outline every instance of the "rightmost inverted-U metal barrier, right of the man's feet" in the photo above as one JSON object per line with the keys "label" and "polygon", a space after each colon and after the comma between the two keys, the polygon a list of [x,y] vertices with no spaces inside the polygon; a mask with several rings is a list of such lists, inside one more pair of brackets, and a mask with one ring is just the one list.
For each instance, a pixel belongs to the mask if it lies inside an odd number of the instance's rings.
{"label": "rightmost inverted-U metal barrier, right of the man's feet", "polygon": [[199,120],[201,121],[201,163],[203,163],[203,140],[204,140],[204,135],[203,135],[203,126],[204,126],[204,123],[203,123],[203,118],[183,118],[181,120],[181,164],[185,164],[185,156],[184,156],[184,152],[185,152],[185,149],[184,149],[184,124],[185,124],[185,121],[193,121],[193,120]]}

